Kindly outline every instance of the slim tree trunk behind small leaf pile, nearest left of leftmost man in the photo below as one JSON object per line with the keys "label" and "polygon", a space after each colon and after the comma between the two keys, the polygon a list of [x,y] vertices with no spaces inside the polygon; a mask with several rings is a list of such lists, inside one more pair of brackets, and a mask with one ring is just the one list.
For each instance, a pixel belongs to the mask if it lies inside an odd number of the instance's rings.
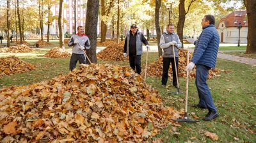
{"label": "slim tree trunk behind small leaf pile, nearest left of leftmost man", "polygon": [[63,23],[62,8],[63,8],[63,0],[60,0],[59,17],[58,17],[60,48],[65,49],[65,47],[64,47],[64,34],[63,34],[63,30],[62,30],[62,23]]}

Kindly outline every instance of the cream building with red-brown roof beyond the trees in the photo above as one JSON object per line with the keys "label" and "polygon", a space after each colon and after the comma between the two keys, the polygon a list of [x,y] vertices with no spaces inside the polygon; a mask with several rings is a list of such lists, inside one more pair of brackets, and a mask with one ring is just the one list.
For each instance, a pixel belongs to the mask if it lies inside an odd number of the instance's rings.
{"label": "cream building with red-brown roof beyond the trees", "polygon": [[233,11],[227,16],[223,17],[217,27],[222,43],[237,43],[240,29],[240,43],[247,43],[248,22],[246,10]]}

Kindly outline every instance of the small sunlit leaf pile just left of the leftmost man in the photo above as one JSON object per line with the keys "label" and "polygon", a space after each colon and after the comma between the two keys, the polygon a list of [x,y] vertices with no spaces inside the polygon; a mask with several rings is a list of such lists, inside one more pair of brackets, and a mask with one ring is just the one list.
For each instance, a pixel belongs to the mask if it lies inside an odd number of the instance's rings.
{"label": "small sunlit leaf pile just left of the leftmost man", "polygon": [[70,57],[71,54],[67,50],[63,50],[61,48],[55,47],[51,49],[45,54],[45,57],[53,57],[53,58],[63,58],[63,57]]}

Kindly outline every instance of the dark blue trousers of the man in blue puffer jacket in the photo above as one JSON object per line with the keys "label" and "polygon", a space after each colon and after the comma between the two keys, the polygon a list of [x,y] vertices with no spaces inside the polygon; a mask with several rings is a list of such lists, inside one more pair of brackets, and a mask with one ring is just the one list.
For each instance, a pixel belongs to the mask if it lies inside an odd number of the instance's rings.
{"label": "dark blue trousers of the man in blue puffer jacket", "polygon": [[211,91],[206,83],[210,68],[203,64],[196,64],[196,88],[199,96],[199,105],[208,110],[216,111]]}

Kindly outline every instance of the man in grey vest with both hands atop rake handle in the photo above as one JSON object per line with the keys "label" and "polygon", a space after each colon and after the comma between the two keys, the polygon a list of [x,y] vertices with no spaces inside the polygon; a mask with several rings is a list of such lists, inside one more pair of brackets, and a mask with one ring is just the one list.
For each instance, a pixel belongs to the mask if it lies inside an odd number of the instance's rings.
{"label": "man in grey vest with both hands atop rake handle", "polygon": [[163,54],[163,75],[162,75],[162,87],[165,87],[168,80],[168,70],[170,67],[170,63],[172,63],[172,75],[173,75],[173,86],[177,88],[177,78],[175,73],[175,64],[174,64],[174,57],[173,57],[173,49],[174,46],[175,51],[175,60],[176,60],[176,67],[178,73],[178,63],[179,63],[179,50],[182,47],[179,36],[174,33],[174,26],[173,24],[168,24],[166,28],[166,32],[161,35],[160,39],[160,47],[164,50]]}

